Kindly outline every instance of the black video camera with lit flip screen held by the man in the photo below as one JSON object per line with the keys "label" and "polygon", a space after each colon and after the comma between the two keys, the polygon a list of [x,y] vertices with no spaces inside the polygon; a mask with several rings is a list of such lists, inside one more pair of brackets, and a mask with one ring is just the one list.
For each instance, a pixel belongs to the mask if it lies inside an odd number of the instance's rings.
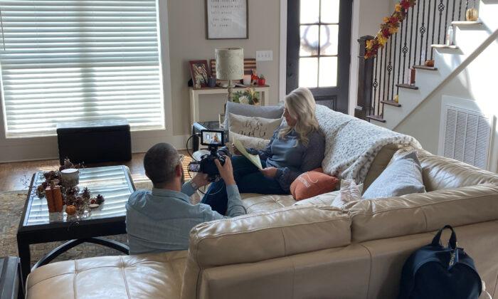
{"label": "black video camera with lit flip screen held by the man", "polygon": [[225,157],[218,154],[218,147],[225,145],[225,134],[222,130],[201,130],[201,145],[207,145],[209,154],[204,154],[200,161],[189,163],[189,172],[202,172],[208,175],[208,180],[214,182],[220,175],[214,160],[225,164]]}

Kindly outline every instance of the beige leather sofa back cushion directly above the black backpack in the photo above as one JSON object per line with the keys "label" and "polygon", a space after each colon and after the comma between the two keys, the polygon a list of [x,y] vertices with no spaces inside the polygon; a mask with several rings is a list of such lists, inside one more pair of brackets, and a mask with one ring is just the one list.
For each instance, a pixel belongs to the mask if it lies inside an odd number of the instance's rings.
{"label": "beige leather sofa back cushion directly above the black backpack", "polygon": [[498,185],[354,201],[349,211],[356,242],[435,231],[498,219]]}

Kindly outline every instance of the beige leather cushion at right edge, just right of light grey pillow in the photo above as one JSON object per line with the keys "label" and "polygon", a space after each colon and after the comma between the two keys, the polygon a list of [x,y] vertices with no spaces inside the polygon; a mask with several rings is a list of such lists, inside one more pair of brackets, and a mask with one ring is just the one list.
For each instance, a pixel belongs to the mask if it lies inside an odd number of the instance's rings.
{"label": "beige leather cushion at right edge, just right of light grey pillow", "polygon": [[447,157],[435,156],[425,150],[420,150],[418,157],[422,165],[423,182],[427,191],[485,183],[498,184],[498,174],[467,163]]}

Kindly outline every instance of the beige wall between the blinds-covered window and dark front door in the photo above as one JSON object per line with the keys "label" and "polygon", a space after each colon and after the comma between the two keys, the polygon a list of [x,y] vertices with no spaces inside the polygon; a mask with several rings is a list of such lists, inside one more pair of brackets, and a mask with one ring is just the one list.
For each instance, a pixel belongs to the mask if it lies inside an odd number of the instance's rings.
{"label": "beige wall between the blinds-covered window and dark front door", "polygon": [[[207,40],[204,0],[168,1],[171,100],[173,103],[174,135],[189,134],[190,103],[187,81],[189,60],[214,58],[214,49],[242,47],[245,58],[255,58],[256,50],[272,50],[273,60],[258,63],[270,85],[270,103],[277,103],[280,53],[280,1],[250,0],[249,38],[243,40]],[[224,96],[202,98],[201,114],[216,120],[223,110]],[[209,105],[213,103],[213,105]]]}

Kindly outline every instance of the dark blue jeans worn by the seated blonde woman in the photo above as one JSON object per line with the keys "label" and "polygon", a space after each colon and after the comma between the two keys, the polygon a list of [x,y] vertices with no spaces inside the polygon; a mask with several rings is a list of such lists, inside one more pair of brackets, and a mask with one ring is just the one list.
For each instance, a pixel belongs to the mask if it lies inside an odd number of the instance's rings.
{"label": "dark blue jeans worn by the seated blonde woman", "polygon": [[[266,167],[266,161],[261,160],[261,164],[263,168]],[[240,193],[287,194],[276,179],[265,177],[258,167],[244,156],[233,156],[232,167],[233,178]],[[226,214],[228,196],[223,179],[211,184],[201,203],[210,205],[213,211],[222,215]]]}

